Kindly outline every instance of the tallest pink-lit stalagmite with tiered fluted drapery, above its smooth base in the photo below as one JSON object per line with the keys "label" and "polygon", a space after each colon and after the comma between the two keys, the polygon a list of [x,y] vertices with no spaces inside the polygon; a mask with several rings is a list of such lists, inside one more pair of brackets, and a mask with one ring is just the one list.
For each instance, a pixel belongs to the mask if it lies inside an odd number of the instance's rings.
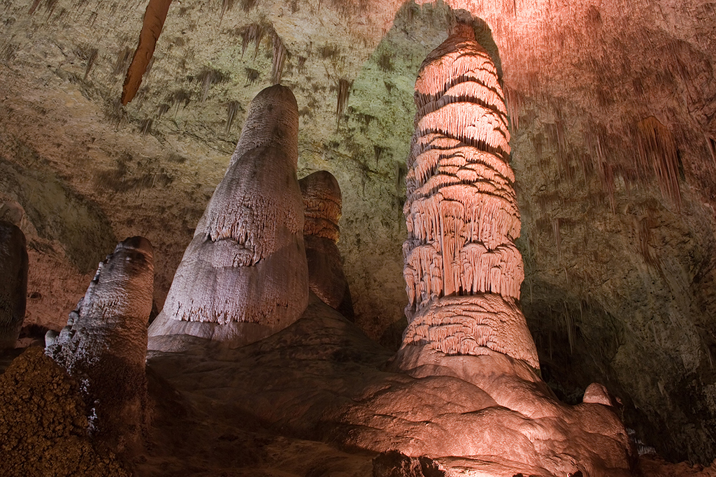
{"label": "tallest pink-lit stalagmite with tiered fluted drapery, above its smooth base", "polygon": [[520,215],[507,112],[495,65],[471,26],[456,25],[427,56],[415,104],[403,346],[426,344],[448,355],[497,352],[538,368],[516,304],[524,272],[513,243]]}

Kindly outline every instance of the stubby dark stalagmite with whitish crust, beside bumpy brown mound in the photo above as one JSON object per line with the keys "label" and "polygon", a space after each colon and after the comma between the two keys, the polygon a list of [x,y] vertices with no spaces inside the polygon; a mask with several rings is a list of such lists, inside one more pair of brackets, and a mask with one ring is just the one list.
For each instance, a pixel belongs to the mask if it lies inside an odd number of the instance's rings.
{"label": "stubby dark stalagmite with whitish crust, beside bumpy brown mound", "polygon": [[90,432],[116,452],[141,442],[153,291],[152,245],[128,238],[100,262],[67,326],[45,337],[45,353],[79,382]]}

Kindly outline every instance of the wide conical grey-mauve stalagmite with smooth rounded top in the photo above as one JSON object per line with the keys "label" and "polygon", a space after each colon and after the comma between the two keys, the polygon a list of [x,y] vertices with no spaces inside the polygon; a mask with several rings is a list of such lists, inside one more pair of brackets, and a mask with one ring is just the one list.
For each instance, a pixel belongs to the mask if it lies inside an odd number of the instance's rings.
{"label": "wide conical grey-mauve stalagmite with smooth rounded top", "polygon": [[150,327],[151,349],[176,349],[186,335],[244,345],[304,312],[298,117],[294,94],[281,85],[251,102],[236,152]]}

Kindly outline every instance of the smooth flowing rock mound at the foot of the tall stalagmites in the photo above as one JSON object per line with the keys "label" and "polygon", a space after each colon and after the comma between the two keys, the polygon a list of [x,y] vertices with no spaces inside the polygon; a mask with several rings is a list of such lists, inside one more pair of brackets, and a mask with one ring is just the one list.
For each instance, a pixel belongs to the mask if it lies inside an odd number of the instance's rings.
{"label": "smooth flowing rock mound at the foot of the tall stalagmites", "polygon": [[413,376],[392,373],[390,350],[317,297],[301,320],[242,348],[184,339],[183,351],[150,352],[148,363],[206,426],[256,423],[343,450],[397,450],[447,475],[630,475],[614,408],[558,403],[532,368],[498,353],[428,350],[414,355]]}

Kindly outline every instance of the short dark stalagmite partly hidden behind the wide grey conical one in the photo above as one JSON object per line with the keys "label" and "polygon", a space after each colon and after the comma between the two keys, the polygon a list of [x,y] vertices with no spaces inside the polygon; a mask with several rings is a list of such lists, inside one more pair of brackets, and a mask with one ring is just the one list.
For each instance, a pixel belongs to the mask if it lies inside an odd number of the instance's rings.
{"label": "short dark stalagmite partly hidden behind the wide grey conical one", "polygon": [[299,180],[304,197],[304,243],[309,266],[309,289],[326,305],[354,320],[348,280],[343,272],[340,236],[341,189],[328,171],[318,171]]}

